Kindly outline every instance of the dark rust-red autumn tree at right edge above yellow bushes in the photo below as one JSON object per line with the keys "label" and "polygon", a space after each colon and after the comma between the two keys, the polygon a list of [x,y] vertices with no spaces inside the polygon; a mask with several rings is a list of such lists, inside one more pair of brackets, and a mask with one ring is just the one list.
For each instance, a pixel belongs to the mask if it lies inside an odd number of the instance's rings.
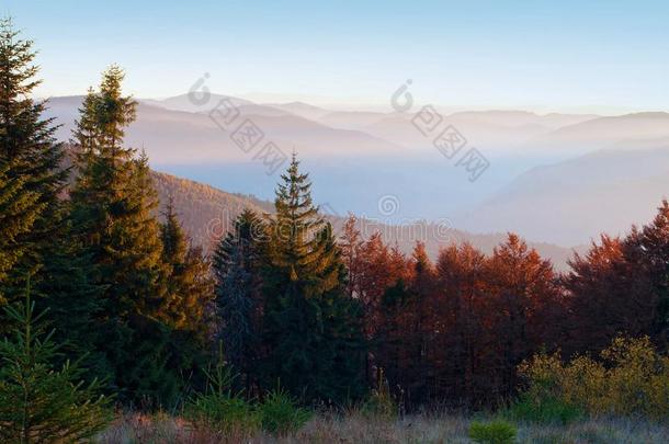
{"label": "dark rust-red autumn tree at right edge above yellow bushes", "polygon": [[617,334],[648,335],[667,349],[669,204],[623,238],[602,235],[564,277],[571,311],[570,352],[598,352]]}

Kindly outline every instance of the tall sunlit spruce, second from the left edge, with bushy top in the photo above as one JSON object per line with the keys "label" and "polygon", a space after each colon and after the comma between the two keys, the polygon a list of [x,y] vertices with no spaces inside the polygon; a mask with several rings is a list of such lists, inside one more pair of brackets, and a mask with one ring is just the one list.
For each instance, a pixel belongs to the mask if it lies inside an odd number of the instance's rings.
{"label": "tall sunlit spruce, second from the left edge, with bushy top", "polygon": [[98,349],[120,398],[168,402],[179,380],[178,368],[170,365],[170,327],[161,321],[169,270],[152,215],[158,200],[146,156],[123,146],[136,106],[122,93],[123,78],[112,66],[103,73],[100,91],[91,90],[80,109],[71,218],[95,265],[95,284],[104,287]]}

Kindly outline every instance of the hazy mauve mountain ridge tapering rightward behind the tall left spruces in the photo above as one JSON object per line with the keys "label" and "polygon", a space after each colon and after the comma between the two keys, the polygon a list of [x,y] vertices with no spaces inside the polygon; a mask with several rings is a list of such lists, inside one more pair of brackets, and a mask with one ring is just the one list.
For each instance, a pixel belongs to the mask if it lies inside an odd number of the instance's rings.
{"label": "hazy mauve mountain ridge tapering rightward behind the tall left spruces", "polygon": [[[56,117],[56,122],[63,125],[57,133],[59,139],[70,138],[81,99],[68,96],[49,101],[46,115]],[[236,125],[245,118],[251,119],[265,135],[260,144],[273,141],[286,155],[293,149],[298,150],[303,158],[360,153],[381,156],[405,151],[397,145],[362,132],[330,128],[275,109],[269,109],[271,112],[263,115],[245,114],[245,106]],[[145,102],[137,106],[137,121],[126,130],[126,141],[145,149],[151,164],[159,166],[252,161],[260,149],[259,146],[253,152],[242,151],[230,139],[230,133],[222,130],[208,113],[173,111]]]}

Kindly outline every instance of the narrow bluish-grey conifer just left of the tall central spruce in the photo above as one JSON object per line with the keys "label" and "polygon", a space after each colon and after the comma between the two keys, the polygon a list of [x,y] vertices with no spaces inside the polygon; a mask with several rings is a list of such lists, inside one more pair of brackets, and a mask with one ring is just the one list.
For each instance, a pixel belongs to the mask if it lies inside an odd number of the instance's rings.
{"label": "narrow bluish-grey conifer just left of the tall central spruce", "polygon": [[[247,378],[254,379],[260,315],[260,251],[264,226],[250,209],[235,220],[234,229],[214,251],[217,337],[228,362]],[[252,375],[253,374],[253,375]]]}

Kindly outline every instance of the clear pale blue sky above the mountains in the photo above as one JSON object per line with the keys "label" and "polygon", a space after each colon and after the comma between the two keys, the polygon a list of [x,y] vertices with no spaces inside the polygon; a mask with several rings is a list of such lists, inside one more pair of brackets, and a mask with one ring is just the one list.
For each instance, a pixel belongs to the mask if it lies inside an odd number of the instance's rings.
{"label": "clear pale blue sky above the mountains", "polygon": [[0,14],[35,41],[41,96],[111,64],[138,98],[538,112],[669,111],[667,1],[34,1]]}

